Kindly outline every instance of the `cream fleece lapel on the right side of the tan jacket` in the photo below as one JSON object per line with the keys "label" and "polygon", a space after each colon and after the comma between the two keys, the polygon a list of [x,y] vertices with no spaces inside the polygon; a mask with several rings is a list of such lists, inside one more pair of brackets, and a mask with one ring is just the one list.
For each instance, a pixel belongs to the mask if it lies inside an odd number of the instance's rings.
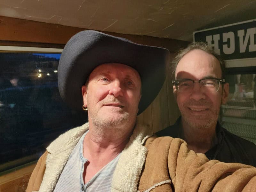
{"label": "cream fleece lapel on the right side of the tan jacket", "polygon": [[136,192],[141,170],[148,149],[145,140],[153,134],[149,126],[136,125],[133,134],[122,151],[112,179],[111,192]]}

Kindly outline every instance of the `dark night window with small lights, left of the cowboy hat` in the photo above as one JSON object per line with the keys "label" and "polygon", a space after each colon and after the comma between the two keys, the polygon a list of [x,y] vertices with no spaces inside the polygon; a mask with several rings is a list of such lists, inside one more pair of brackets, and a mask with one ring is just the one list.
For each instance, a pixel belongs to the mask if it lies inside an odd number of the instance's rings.
{"label": "dark night window with small lights, left of the cowboy hat", "polygon": [[87,121],[60,98],[59,59],[59,53],[0,53],[0,172],[37,160],[52,140]]}

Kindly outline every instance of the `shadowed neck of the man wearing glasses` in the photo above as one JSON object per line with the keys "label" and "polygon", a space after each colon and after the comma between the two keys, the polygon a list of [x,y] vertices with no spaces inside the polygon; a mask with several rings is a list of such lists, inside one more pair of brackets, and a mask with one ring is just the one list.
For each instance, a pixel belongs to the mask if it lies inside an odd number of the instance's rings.
{"label": "shadowed neck of the man wearing glasses", "polygon": [[204,128],[191,126],[181,117],[181,139],[187,142],[188,149],[196,153],[206,153],[218,143],[216,125],[217,122]]}

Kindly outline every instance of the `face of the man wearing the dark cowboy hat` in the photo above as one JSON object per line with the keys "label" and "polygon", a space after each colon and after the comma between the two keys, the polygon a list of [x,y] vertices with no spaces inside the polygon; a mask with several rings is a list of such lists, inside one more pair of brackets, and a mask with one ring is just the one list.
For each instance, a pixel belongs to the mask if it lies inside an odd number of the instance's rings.
{"label": "face of the man wearing the dark cowboy hat", "polygon": [[134,125],[140,102],[139,73],[124,64],[102,64],[82,86],[89,124],[102,126]]}

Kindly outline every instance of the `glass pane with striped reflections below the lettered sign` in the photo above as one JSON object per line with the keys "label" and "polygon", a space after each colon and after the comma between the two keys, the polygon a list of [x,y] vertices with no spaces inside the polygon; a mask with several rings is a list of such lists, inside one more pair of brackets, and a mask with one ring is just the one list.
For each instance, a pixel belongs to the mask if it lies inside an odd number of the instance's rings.
{"label": "glass pane with striped reflections below the lettered sign", "polygon": [[[251,72],[250,72],[251,73]],[[221,106],[221,124],[256,144],[256,74],[227,75],[229,97]]]}

